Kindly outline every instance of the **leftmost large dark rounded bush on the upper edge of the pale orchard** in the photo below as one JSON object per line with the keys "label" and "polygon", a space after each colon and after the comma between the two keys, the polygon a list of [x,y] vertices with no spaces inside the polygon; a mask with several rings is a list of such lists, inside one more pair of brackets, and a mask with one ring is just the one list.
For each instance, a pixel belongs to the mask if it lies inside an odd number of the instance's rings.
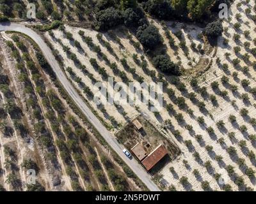
{"label": "leftmost large dark rounded bush on the upper edge of the pale orchard", "polygon": [[113,7],[97,12],[96,19],[97,19],[96,28],[101,31],[107,31],[111,27],[120,25],[123,22],[122,13]]}

